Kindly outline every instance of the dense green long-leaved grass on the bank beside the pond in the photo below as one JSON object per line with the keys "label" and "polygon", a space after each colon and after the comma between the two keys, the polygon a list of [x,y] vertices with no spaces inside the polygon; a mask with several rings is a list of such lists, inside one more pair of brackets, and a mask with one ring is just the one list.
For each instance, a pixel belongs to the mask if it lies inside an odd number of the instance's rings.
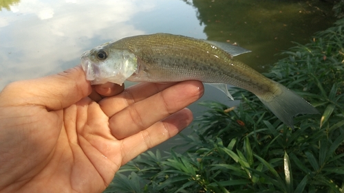
{"label": "dense green long-leaved grass on the bank beside the pond", "polygon": [[105,192],[344,192],[344,19],[282,54],[265,75],[321,114],[295,117],[292,130],[255,95],[233,89],[235,108],[201,103],[208,111],[182,136],[186,152],[146,152]]}

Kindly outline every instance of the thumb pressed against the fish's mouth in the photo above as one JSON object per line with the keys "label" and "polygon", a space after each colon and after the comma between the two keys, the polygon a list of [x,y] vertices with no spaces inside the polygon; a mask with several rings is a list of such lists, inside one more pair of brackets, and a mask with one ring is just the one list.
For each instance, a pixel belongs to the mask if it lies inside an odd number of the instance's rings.
{"label": "thumb pressed against the fish's mouth", "polygon": [[1,104],[41,105],[48,110],[63,109],[92,91],[80,66],[52,76],[8,84],[0,93]]}

